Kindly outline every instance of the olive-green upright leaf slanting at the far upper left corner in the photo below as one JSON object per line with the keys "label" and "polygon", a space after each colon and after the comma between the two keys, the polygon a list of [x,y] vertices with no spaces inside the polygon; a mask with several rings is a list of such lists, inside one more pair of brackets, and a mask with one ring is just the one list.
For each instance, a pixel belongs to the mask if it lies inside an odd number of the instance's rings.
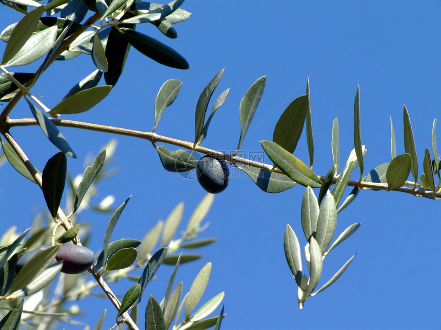
{"label": "olive-green upright leaf slanting at the far upper left corner", "polygon": [[2,63],[4,64],[18,53],[25,45],[26,41],[31,37],[34,28],[38,24],[39,18],[42,16],[44,6],[39,6],[27,13],[15,26],[9,37],[5,52],[3,53]]}

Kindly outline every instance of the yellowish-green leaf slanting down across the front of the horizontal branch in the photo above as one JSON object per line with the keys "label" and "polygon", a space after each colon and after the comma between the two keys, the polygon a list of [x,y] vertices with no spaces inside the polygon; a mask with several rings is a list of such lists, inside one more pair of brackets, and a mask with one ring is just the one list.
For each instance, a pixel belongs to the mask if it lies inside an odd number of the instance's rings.
{"label": "yellowish-green leaf slanting down across the front of the horizontal branch", "polygon": [[322,185],[317,175],[289,151],[268,140],[260,141],[260,144],[274,164],[291,180],[312,188],[319,188]]}

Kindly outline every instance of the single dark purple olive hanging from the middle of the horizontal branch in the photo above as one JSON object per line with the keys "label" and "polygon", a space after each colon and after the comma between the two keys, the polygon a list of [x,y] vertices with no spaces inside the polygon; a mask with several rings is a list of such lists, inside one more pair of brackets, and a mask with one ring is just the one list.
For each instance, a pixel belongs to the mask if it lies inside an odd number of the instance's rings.
{"label": "single dark purple olive hanging from the middle of the horizontal branch", "polygon": [[197,181],[210,193],[224,191],[230,181],[230,170],[223,159],[204,156],[196,166]]}

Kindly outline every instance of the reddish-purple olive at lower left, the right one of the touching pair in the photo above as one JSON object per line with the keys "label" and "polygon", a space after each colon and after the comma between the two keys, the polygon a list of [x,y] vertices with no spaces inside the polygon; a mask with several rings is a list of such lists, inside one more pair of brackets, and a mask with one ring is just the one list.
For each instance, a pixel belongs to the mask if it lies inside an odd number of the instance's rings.
{"label": "reddish-purple olive at lower left, the right one of the touching pair", "polygon": [[79,274],[92,266],[95,255],[92,250],[74,244],[62,245],[55,256],[57,261],[63,260],[62,273]]}

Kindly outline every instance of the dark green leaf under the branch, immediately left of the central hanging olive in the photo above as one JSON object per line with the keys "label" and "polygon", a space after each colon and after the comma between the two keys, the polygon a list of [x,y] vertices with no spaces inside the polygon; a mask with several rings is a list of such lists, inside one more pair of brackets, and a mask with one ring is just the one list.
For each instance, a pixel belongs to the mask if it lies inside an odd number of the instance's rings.
{"label": "dark green leaf under the branch, immediately left of the central hanging olive", "polygon": [[186,172],[196,168],[197,161],[190,152],[183,149],[169,150],[160,145],[156,148],[159,159],[169,172]]}

